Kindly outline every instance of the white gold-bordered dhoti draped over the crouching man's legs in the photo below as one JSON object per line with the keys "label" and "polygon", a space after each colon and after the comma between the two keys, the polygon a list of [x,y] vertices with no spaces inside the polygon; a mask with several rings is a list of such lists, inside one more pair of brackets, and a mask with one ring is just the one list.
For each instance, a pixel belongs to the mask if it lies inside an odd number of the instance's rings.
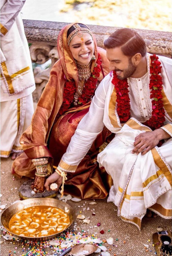
{"label": "white gold-bordered dhoti draped over the crouching man's legs", "polygon": [[[98,154],[100,167],[105,167],[113,179],[108,202],[114,202],[118,206],[118,215],[123,220],[131,219],[138,228],[146,209],[167,219],[171,218],[172,209],[172,191],[168,180],[171,177],[156,165],[152,151],[145,155],[131,153],[135,137],[141,132],[124,125],[120,133]],[[171,147],[170,138],[160,148],[154,148],[169,174],[172,168]]]}

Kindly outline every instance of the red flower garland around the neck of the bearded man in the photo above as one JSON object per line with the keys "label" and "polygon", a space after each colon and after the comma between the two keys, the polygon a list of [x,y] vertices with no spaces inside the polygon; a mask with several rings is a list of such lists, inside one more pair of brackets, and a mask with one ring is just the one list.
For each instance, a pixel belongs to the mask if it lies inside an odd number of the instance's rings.
{"label": "red flower garland around the neck of the bearded man", "polygon": [[[158,61],[156,55],[151,55],[151,67],[150,67],[150,83],[149,88],[151,89],[150,98],[152,100],[152,117],[147,120],[144,125],[150,127],[152,130],[158,129],[163,126],[165,121],[164,104],[162,101],[162,77],[159,75],[161,72],[161,62]],[[130,98],[128,90],[127,79],[120,80],[117,77],[115,71],[113,71],[112,84],[114,84],[117,92],[117,113],[121,123],[125,123],[130,118]]]}

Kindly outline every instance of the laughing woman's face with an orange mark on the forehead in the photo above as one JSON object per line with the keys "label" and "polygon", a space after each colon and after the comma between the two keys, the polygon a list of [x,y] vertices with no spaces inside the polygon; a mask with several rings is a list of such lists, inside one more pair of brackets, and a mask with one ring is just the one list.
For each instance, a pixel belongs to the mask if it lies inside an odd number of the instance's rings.
{"label": "laughing woman's face with an orange mark on the forehead", "polygon": [[94,54],[92,36],[88,33],[84,33],[82,37],[74,36],[69,44],[69,48],[78,64],[89,64]]}

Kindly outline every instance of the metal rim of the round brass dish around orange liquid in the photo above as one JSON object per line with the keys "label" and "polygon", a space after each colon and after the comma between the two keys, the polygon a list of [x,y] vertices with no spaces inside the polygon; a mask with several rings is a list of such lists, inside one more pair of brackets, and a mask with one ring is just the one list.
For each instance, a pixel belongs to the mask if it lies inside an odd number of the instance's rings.
{"label": "metal rim of the round brass dish around orange liquid", "polygon": [[[33,199],[26,199],[26,200],[23,200],[21,202],[12,204],[7,209],[5,209],[5,211],[1,215],[1,224],[2,224],[2,226],[7,231],[12,233],[9,230],[9,221],[11,220],[12,216],[14,214],[16,214],[17,212],[21,211],[22,208],[26,209],[26,208],[29,208],[31,206],[38,206],[38,205],[53,206],[53,207],[57,207],[59,209],[62,209],[63,211],[65,211],[65,207],[67,207],[67,209],[69,209],[69,212],[67,214],[69,215],[70,223],[64,230],[69,228],[70,225],[72,225],[72,223],[74,222],[75,212],[74,212],[74,209],[69,204],[64,203],[62,201],[59,201],[58,199],[54,199],[54,198],[33,198]],[[17,237],[20,237],[22,239],[27,238],[28,240],[47,240],[47,239],[56,237],[57,234],[59,234],[59,233],[61,233],[61,232],[57,232],[54,235],[50,235],[50,236],[47,236],[47,237],[38,237],[38,238],[36,238],[36,237],[33,237],[33,238],[32,237],[21,237],[21,236],[18,236],[18,235],[17,235]],[[14,233],[12,233],[12,234],[14,234]],[[14,235],[16,235],[16,234],[14,234]]]}

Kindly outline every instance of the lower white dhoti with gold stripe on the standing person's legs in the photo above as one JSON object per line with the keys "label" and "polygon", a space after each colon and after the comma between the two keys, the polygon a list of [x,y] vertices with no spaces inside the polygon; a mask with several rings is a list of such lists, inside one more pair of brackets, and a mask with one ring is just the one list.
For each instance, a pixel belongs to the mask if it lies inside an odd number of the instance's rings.
{"label": "lower white dhoti with gold stripe on the standing person's legs", "polygon": [[30,125],[33,113],[32,94],[1,102],[1,157],[23,151],[19,140]]}

